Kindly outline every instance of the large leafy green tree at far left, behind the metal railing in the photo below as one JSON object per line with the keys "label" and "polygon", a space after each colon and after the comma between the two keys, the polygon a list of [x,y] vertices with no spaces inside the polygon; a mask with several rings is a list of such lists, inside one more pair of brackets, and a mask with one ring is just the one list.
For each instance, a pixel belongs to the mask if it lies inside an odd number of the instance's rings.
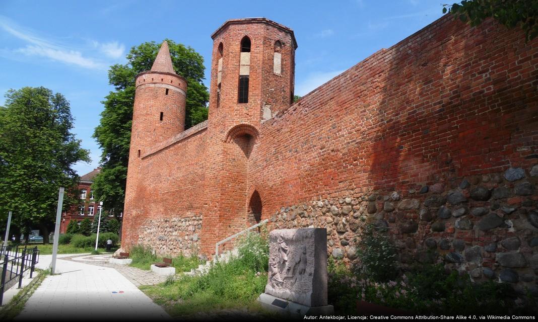
{"label": "large leafy green tree at far left, behind the metal railing", "polygon": [[69,102],[44,87],[9,90],[0,107],[0,215],[13,211],[20,231],[39,226],[48,242],[58,203],[66,188],[63,209],[76,202],[79,176],[71,168],[87,161],[88,151],[70,132]]}

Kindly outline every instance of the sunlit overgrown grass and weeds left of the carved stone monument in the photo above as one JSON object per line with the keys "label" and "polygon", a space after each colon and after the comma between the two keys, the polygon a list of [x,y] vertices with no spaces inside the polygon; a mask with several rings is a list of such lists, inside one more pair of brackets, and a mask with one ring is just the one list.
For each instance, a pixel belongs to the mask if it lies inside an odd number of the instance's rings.
{"label": "sunlit overgrown grass and weeds left of the carved stone monument", "polygon": [[267,283],[267,234],[248,235],[238,241],[238,249],[237,257],[215,264],[206,275],[180,276],[140,289],[175,317],[238,307],[257,311],[256,298]]}

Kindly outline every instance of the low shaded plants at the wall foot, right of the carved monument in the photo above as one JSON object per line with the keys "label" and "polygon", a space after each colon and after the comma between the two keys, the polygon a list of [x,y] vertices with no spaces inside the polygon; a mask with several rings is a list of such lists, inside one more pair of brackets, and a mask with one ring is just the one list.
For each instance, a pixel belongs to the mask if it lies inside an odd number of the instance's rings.
{"label": "low shaded plants at the wall foot, right of the carved monument", "polygon": [[526,314],[536,300],[511,297],[511,286],[487,281],[471,282],[468,275],[446,271],[442,264],[417,267],[401,277],[376,282],[354,274],[342,265],[329,266],[329,303],[339,313],[356,312],[357,300],[365,300],[410,313]]}

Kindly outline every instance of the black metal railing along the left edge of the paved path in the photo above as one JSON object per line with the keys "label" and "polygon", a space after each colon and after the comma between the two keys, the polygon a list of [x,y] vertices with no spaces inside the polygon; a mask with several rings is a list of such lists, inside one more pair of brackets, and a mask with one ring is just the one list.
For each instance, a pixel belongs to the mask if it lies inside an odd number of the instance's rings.
{"label": "black metal railing along the left edge of the paved path", "polygon": [[[22,247],[6,247],[0,248],[0,254],[3,255],[4,261],[2,265],[2,281],[0,284],[0,305],[4,299],[4,292],[12,285],[10,282],[16,281],[19,278],[18,288],[22,288],[24,272],[30,270],[30,278],[36,269],[36,264],[39,262],[39,249]],[[9,275],[8,275],[9,271]]]}

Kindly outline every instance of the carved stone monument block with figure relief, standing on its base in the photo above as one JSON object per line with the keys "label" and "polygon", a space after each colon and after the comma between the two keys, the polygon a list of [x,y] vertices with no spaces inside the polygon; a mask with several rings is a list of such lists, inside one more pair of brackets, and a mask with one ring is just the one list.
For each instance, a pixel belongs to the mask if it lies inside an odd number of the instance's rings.
{"label": "carved stone monument block with figure relief, standing on its base", "polygon": [[327,305],[327,230],[299,228],[269,234],[269,273],[258,298],[268,309],[292,314],[330,314]]}

